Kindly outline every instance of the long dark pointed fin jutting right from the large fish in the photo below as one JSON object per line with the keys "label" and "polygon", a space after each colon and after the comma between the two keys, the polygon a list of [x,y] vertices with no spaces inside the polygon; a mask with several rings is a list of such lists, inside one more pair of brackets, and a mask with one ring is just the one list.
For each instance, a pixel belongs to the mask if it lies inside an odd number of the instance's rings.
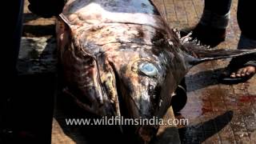
{"label": "long dark pointed fin jutting right from the large fish", "polygon": [[188,65],[195,66],[199,63],[211,61],[222,58],[234,58],[246,54],[256,53],[256,49],[250,50],[230,50],[230,49],[218,49],[208,48],[207,46],[200,46],[191,44],[189,42],[184,43],[183,47],[186,49],[186,61]]}

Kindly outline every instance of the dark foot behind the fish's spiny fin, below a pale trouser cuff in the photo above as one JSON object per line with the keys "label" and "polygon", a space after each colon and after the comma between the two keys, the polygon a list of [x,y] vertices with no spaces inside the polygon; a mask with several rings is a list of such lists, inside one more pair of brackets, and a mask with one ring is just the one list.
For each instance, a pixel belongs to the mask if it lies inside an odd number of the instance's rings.
{"label": "dark foot behind the fish's spiny fin, below a pale trouser cuff", "polygon": [[190,37],[192,40],[197,39],[201,45],[210,47],[217,46],[220,42],[223,42],[226,37],[226,29],[218,29],[212,26],[204,26],[198,23],[194,28],[188,28],[181,30],[181,35],[186,36],[192,31]]}

